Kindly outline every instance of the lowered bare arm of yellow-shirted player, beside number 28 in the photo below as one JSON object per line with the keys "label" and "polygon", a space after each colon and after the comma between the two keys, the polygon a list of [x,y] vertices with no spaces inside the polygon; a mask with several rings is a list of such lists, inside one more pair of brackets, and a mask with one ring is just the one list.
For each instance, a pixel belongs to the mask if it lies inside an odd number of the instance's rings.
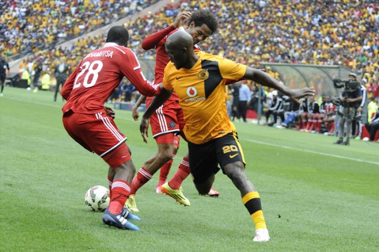
{"label": "lowered bare arm of yellow-shirted player, beside number 28", "polygon": [[172,90],[167,90],[165,88],[161,88],[161,93],[154,97],[152,103],[149,108],[145,111],[142,116],[141,123],[139,124],[139,131],[141,132],[142,137],[144,138],[144,142],[148,142],[148,129],[149,129],[149,120],[153,113],[161,107],[168,98],[170,98],[172,94]]}

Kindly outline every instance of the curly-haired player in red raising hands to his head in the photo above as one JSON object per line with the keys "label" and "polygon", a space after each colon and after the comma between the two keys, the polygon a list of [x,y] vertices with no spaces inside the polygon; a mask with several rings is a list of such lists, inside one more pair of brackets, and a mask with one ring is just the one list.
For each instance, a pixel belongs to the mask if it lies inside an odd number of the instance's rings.
{"label": "curly-haired player in red raising hands to his head", "polygon": [[[213,34],[218,28],[218,20],[208,10],[198,10],[193,12],[181,12],[174,21],[174,24],[148,36],[142,43],[145,50],[156,49],[156,64],[155,64],[155,80],[154,83],[163,81],[164,69],[169,62],[168,55],[165,50],[166,39],[178,30],[184,30],[182,27],[183,20],[187,19],[188,28],[186,32],[191,34],[194,39],[195,50],[201,51],[196,44],[205,40]],[[137,108],[143,102],[145,97],[140,97],[133,107],[133,118],[138,120]],[[153,97],[146,98],[146,107],[149,107]],[[179,169],[174,177],[165,183],[169,170],[171,168],[173,158],[179,147],[178,133],[183,129],[185,121],[183,112],[179,106],[179,98],[175,92],[169,100],[162,105],[151,117],[150,125],[152,128],[153,137],[158,144],[158,153],[151,159],[146,161],[143,167],[138,171],[137,176],[133,179],[130,189],[130,197],[127,200],[127,207],[132,211],[138,211],[133,194],[145,183],[147,183],[158,169],[161,169],[160,178],[156,187],[156,192],[163,192],[173,196],[176,201],[184,206],[189,206],[189,200],[181,191],[181,182],[189,175],[188,153],[185,154],[180,163]],[[218,196],[219,193],[211,188],[208,195]]]}

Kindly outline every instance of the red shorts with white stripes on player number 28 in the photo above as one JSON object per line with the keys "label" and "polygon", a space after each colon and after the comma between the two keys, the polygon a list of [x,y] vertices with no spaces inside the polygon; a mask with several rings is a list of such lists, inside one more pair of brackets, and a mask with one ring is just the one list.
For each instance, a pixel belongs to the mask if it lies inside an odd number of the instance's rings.
{"label": "red shorts with white stripes on player number 28", "polygon": [[105,112],[92,115],[68,112],[63,116],[63,125],[75,141],[99,155],[111,168],[131,158],[124,143],[125,135]]}

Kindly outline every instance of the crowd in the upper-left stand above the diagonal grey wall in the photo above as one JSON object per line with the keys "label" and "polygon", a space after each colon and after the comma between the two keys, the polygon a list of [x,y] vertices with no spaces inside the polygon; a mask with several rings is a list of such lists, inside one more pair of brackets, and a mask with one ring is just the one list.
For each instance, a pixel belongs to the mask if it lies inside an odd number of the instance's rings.
{"label": "crowd in the upper-left stand above the diagonal grey wall", "polygon": [[37,53],[146,8],[159,0],[6,0],[0,6],[0,49]]}

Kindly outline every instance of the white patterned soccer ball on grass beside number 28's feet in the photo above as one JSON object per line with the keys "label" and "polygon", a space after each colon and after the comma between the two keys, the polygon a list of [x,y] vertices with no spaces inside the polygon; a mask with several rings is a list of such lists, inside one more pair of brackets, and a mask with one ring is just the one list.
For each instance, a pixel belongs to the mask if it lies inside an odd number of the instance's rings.
{"label": "white patterned soccer ball on grass beside number 28's feet", "polygon": [[97,185],[88,189],[84,196],[85,206],[91,211],[103,212],[109,206],[109,190]]}

